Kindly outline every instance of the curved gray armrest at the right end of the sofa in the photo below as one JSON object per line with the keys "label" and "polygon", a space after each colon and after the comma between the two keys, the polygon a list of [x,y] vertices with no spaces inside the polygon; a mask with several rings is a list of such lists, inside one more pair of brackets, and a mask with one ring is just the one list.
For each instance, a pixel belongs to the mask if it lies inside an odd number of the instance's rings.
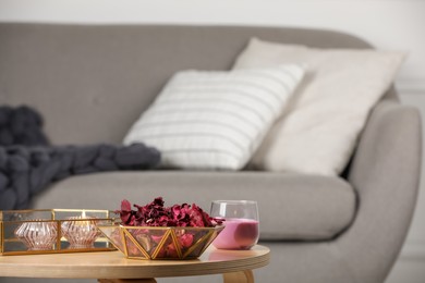
{"label": "curved gray armrest at the right end of the sofa", "polygon": [[357,214],[338,244],[360,282],[384,282],[405,239],[418,190],[421,128],[415,108],[386,99],[359,140],[348,176],[359,194]]}

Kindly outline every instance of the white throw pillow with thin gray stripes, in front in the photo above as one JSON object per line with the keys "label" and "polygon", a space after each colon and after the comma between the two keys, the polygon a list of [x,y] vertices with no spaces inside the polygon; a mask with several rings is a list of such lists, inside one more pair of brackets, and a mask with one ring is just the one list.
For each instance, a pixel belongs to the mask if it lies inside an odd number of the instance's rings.
{"label": "white throw pillow with thin gray stripes, in front", "polygon": [[241,71],[182,71],[124,138],[161,151],[161,165],[242,169],[304,75],[296,64]]}

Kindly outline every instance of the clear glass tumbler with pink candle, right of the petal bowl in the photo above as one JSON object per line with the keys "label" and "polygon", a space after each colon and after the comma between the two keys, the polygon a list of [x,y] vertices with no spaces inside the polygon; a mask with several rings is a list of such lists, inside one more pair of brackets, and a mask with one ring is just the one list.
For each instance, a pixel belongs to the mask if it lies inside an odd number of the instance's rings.
{"label": "clear glass tumbler with pink candle, right of the petal bowl", "polygon": [[259,237],[258,208],[254,200],[215,200],[210,216],[223,219],[224,230],[212,242],[216,248],[250,249]]}

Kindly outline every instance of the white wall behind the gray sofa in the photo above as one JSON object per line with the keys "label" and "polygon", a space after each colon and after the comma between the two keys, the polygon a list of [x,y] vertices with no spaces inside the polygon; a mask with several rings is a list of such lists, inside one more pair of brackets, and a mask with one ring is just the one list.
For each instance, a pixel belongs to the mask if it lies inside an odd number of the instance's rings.
{"label": "white wall behind the gray sofa", "polygon": [[[329,28],[409,58],[402,101],[425,116],[425,0],[0,0],[0,22],[236,24]],[[424,175],[424,174],[423,174]],[[425,281],[425,182],[389,283]]]}

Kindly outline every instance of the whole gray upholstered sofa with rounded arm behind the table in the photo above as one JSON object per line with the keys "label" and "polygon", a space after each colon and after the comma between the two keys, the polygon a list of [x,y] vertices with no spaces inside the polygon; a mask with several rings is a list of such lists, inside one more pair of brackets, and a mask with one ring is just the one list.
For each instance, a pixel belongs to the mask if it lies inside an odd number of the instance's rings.
{"label": "whole gray upholstered sofa with rounded arm behind the table", "polygon": [[[119,144],[174,72],[228,70],[252,36],[319,48],[372,48],[351,35],[315,29],[0,24],[0,103],[36,108],[56,145]],[[377,283],[385,281],[409,230],[420,159],[418,112],[400,104],[392,87],[371,113],[340,177],[96,173],[51,185],[34,199],[34,208],[117,209],[123,198],[145,204],[156,196],[169,205],[205,208],[212,199],[255,199],[260,242],[271,249],[271,263],[255,271],[257,282]]]}

